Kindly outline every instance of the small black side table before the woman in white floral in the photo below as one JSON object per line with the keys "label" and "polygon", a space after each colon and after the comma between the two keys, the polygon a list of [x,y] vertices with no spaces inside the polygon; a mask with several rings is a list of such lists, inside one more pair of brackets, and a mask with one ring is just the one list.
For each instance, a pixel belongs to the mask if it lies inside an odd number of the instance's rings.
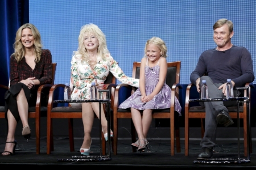
{"label": "small black side table before the woman in white floral", "polygon": [[[109,98],[109,90],[98,90],[100,93],[100,99],[94,100],[55,100],[53,103],[99,103],[100,109],[100,155],[99,156],[72,156],[75,159],[57,159],[58,162],[94,162],[94,161],[105,161],[111,160],[110,154],[110,99],[101,99],[102,92],[106,92],[106,98]],[[101,146],[101,104],[106,103],[107,106],[107,121],[108,121],[108,155],[102,156],[102,146]]]}

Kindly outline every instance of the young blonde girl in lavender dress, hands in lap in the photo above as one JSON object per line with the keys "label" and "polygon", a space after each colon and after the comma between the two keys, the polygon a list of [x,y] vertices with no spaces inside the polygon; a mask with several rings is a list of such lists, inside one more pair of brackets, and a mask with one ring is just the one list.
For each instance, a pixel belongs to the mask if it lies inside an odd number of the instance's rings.
{"label": "young blonde girl in lavender dress, hands in lap", "polygon": [[[119,108],[131,108],[131,117],[138,134],[138,141],[131,146],[143,151],[148,147],[146,139],[152,121],[153,109],[166,109],[171,105],[171,88],[166,84],[167,47],[159,37],[147,40],[141,60],[139,88]],[[181,112],[175,97],[175,111]],[[141,112],[143,112],[143,117]]]}

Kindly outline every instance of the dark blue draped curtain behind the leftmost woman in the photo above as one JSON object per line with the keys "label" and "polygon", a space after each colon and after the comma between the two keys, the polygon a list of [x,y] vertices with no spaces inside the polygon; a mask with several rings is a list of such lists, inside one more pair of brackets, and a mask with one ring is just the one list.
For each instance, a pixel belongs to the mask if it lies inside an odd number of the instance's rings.
{"label": "dark blue draped curtain behind the leftmost woman", "polygon": [[[14,52],[13,44],[16,31],[21,25],[29,22],[28,7],[28,0],[0,1],[0,84],[5,86],[9,86],[10,56]],[[0,101],[2,103],[3,99]]]}

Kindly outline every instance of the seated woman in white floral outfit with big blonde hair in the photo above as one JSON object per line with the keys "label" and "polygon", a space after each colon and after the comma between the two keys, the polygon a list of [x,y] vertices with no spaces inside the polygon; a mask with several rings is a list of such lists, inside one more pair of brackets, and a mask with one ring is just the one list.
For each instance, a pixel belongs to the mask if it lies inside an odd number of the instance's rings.
{"label": "seated woman in white floral outfit with big blonde hair", "polygon": [[[104,33],[95,24],[82,26],[79,35],[79,48],[73,53],[71,60],[71,83],[73,84],[72,100],[90,99],[90,87],[96,83],[97,89],[104,88],[104,81],[109,71],[120,82],[138,87],[139,79],[126,76],[117,62],[110,55],[106,45]],[[84,141],[80,148],[81,155],[89,155],[92,138],[90,132],[94,120],[94,113],[99,118],[98,103],[71,103],[73,106],[82,107],[82,122],[84,125]],[[103,108],[102,108],[103,111]],[[104,114],[101,114],[101,125],[105,140],[108,141],[108,122]],[[113,138],[113,132],[110,131]]]}

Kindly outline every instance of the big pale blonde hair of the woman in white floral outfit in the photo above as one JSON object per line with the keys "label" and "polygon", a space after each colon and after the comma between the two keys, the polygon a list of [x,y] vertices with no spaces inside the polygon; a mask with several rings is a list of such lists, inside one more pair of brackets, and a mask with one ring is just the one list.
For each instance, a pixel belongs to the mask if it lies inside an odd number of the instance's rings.
{"label": "big pale blonde hair of the woman in white floral outfit", "polygon": [[74,55],[80,54],[82,56],[82,60],[89,63],[89,54],[87,53],[87,50],[84,46],[84,37],[86,33],[92,33],[98,39],[99,45],[97,49],[97,55],[102,59],[106,59],[106,54],[109,54],[109,50],[106,45],[106,37],[101,29],[92,23],[83,25],[81,27],[78,39],[79,47],[77,48],[77,51],[74,53]]}

